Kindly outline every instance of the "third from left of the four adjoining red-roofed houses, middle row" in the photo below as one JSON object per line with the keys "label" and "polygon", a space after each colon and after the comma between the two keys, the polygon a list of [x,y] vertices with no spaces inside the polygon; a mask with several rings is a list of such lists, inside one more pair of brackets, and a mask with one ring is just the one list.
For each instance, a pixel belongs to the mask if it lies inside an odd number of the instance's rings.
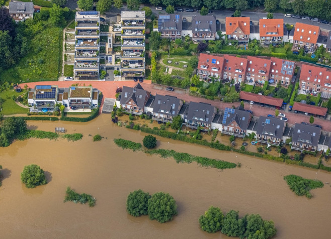
{"label": "third from left of the four adjoining red-roofed houses, middle row", "polygon": [[264,84],[265,81],[269,80],[270,60],[252,56],[247,56],[247,60],[246,80],[256,84]]}

